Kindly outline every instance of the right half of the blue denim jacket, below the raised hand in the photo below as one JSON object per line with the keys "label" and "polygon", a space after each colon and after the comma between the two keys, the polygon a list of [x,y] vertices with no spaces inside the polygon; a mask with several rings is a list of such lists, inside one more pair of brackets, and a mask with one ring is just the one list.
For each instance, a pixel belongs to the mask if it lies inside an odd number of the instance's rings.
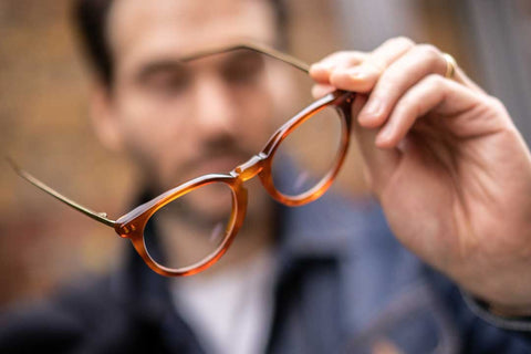
{"label": "right half of the blue denim jacket, below the raised hand", "polygon": [[[399,353],[531,353],[529,322],[519,332],[478,317],[481,309],[402,247],[368,198],[330,196],[285,212],[279,303],[287,311],[274,325],[290,340],[273,337],[272,352],[373,353],[386,343]],[[290,277],[304,283],[282,282]]]}

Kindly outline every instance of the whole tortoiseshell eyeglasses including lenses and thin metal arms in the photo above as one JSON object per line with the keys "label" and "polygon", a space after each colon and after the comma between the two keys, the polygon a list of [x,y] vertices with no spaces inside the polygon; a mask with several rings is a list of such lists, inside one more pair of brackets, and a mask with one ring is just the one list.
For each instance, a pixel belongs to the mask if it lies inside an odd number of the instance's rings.
{"label": "whole tortoiseshell eyeglasses including lenses and thin metal arms", "polygon": [[[217,48],[183,58],[189,62],[208,55],[248,50],[282,61],[308,73],[309,65],[274,49],[242,43]],[[114,228],[122,238],[132,241],[138,254],[155,272],[167,277],[191,275],[206,270],[227,252],[247,210],[248,192],[243,184],[258,176],[268,194],[287,206],[302,206],[321,197],[333,183],[350,144],[351,104],[355,94],[335,91],[313,102],[278,128],[263,149],[228,174],[209,174],[191,179],[138,206],[117,220],[95,212],[50,188],[10,160],[24,179],[85,214]],[[326,132],[317,146],[329,152],[320,171],[293,166],[290,145],[299,135],[304,142],[309,127]],[[296,170],[298,174],[289,170]],[[285,176],[288,175],[288,176]],[[152,230],[152,231],[148,231]],[[158,238],[152,236],[157,231]],[[164,236],[164,237],[162,237]],[[162,240],[160,240],[162,238]],[[164,256],[162,249],[169,250]],[[169,253],[169,257],[168,257]]]}

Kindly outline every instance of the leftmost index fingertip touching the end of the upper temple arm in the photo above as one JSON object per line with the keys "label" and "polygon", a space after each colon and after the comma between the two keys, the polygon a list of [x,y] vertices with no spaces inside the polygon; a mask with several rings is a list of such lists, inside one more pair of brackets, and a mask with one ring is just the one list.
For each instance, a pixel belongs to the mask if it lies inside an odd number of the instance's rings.
{"label": "leftmost index fingertip touching the end of the upper temple arm", "polygon": [[330,84],[330,74],[337,67],[357,65],[367,58],[367,53],[357,51],[335,52],[310,66],[310,76],[317,83]]}

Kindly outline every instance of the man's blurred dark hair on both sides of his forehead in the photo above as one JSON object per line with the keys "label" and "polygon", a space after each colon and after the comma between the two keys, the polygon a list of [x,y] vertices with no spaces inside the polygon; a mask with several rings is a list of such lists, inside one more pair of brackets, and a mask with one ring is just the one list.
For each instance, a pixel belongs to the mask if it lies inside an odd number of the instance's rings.
{"label": "man's blurred dark hair on both sides of his forehead", "polygon": [[[270,1],[277,17],[279,45],[288,45],[287,7],[284,0]],[[114,63],[107,38],[107,17],[113,0],[76,0],[74,6],[74,24],[81,37],[83,49],[94,66],[101,81],[111,86]]]}

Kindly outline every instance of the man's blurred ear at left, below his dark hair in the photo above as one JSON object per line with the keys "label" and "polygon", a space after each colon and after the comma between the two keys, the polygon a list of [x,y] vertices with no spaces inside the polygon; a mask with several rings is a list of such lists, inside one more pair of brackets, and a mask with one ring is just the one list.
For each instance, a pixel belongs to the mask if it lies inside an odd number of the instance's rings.
{"label": "man's blurred ear at left, below his dark hair", "polygon": [[103,83],[94,83],[90,104],[92,124],[100,142],[113,152],[122,152],[123,134],[111,88]]}

